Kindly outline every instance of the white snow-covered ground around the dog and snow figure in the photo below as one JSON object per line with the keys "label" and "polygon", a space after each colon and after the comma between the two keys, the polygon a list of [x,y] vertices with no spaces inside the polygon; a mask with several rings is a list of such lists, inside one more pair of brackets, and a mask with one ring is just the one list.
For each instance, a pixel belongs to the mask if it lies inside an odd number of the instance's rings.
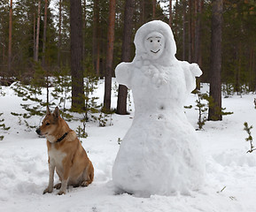
{"label": "white snow-covered ground around the dog and snow figure", "polygon": [[[95,95],[103,99],[104,84]],[[204,87],[206,89],[206,87]],[[132,123],[134,112],[128,116],[112,115],[112,126],[98,127],[87,124],[89,137],[82,140],[95,168],[95,180],[86,187],[69,187],[66,195],[42,194],[48,184],[47,148],[45,139],[28,131],[23,120],[11,112],[22,112],[22,99],[11,87],[2,87],[0,113],[4,124],[12,128],[0,141],[0,211],[91,211],[91,212],[252,212],[256,211],[256,152],[246,153],[250,148],[244,139],[244,122],[256,126],[253,98],[255,95],[233,95],[223,98],[223,107],[233,115],[223,117],[221,122],[206,122],[204,130],[197,131],[206,156],[206,184],[198,192],[184,196],[152,195],[138,198],[127,193],[115,194],[112,185],[112,164],[123,138]],[[191,125],[197,128],[198,110],[195,110],[196,95],[190,95],[184,109]],[[112,97],[112,107],[116,97]],[[132,108],[132,107],[131,107]],[[31,117],[30,123],[40,125],[39,117]],[[79,122],[68,123],[75,129]],[[256,129],[252,129],[256,138]],[[160,162],[159,162],[160,163]],[[154,179],[155,180],[155,179]],[[56,177],[56,181],[58,178]]]}

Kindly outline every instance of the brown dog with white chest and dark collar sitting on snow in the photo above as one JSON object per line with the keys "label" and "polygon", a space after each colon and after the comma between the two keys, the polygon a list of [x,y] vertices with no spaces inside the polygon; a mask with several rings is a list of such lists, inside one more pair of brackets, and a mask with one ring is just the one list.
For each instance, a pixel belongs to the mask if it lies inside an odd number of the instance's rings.
{"label": "brown dog with white chest and dark collar sitting on snow", "polygon": [[60,117],[58,107],[53,113],[47,107],[46,116],[36,133],[46,137],[49,155],[49,185],[43,193],[51,193],[53,190],[55,168],[61,181],[54,186],[60,189],[59,195],[66,193],[67,186],[88,186],[92,182],[93,165],[76,133]]}

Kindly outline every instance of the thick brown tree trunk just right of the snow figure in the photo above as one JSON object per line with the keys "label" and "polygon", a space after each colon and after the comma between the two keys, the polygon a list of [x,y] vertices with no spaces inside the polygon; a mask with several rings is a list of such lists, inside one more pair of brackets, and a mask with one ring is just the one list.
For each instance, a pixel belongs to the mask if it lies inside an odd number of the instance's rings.
{"label": "thick brown tree trunk just right of the snow figure", "polygon": [[213,105],[209,107],[209,120],[222,120],[221,115],[221,37],[222,37],[222,0],[213,0],[210,96]]}

